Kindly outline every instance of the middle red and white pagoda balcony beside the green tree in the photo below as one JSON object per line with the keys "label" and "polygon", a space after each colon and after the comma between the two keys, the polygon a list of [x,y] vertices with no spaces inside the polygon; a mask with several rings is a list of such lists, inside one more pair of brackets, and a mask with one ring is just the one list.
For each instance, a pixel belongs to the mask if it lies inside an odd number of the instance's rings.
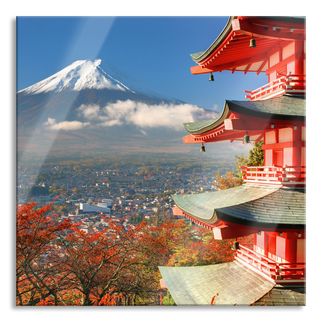
{"label": "middle red and white pagoda balcony beside the green tree", "polygon": [[245,183],[305,186],[305,166],[241,166]]}

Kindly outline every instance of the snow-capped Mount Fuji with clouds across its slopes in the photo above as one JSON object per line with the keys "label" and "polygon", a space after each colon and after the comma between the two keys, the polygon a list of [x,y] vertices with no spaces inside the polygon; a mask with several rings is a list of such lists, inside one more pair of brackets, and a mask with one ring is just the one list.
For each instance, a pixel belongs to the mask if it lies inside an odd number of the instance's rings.
{"label": "snow-capped Mount Fuji with clouds across its slopes", "polygon": [[18,153],[161,151],[183,146],[182,123],[216,118],[108,62],[79,60],[16,93]]}

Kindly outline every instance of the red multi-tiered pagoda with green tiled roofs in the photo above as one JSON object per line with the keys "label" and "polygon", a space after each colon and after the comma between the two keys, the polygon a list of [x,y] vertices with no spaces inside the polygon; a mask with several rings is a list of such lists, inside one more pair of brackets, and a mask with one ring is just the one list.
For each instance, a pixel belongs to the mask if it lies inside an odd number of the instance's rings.
{"label": "red multi-tiered pagoda with green tiled roofs", "polygon": [[305,17],[232,16],[191,57],[192,74],[210,73],[209,81],[229,70],[265,72],[268,84],[245,90],[245,101],[226,100],[217,119],[184,124],[184,143],[263,141],[264,166],[241,167],[238,187],[173,195],[174,214],[215,239],[254,234],[254,245],[235,243],[230,263],[159,267],[166,287],[177,305],[210,305],[217,293],[216,305],[305,305]]}

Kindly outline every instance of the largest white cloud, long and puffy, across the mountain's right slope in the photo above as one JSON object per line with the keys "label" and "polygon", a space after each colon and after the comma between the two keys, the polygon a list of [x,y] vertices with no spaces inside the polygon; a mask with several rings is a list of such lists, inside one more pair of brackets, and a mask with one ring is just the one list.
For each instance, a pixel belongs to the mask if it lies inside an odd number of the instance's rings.
{"label": "largest white cloud, long and puffy, across the mountain's right slope", "polygon": [[[182,123],[217,118],[218,113],[205,112],[191,104],[149,105],[132,100],[109,103],[99,109],[98,105],[81,105],[80,114],[87,120],[97,121],[99,126],[134,124],[139,128],[167,127],[182,129]],[[146,132],[142,132],[146,135]]]}

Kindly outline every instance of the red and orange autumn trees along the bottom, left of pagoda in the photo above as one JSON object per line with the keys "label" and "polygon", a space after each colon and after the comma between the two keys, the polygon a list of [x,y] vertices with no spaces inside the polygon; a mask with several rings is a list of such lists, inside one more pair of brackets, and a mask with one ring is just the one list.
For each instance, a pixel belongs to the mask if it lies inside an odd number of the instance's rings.
{"label": "red and orange autumn trees along the bottom, left of pagoda", "polygon": [[107,229],[85,232],[51,207],[17,206],[16,305],[158,305],[158,266],[234,259],[230,241],[183,220],[143,222],[127,231],[105,219]]}

